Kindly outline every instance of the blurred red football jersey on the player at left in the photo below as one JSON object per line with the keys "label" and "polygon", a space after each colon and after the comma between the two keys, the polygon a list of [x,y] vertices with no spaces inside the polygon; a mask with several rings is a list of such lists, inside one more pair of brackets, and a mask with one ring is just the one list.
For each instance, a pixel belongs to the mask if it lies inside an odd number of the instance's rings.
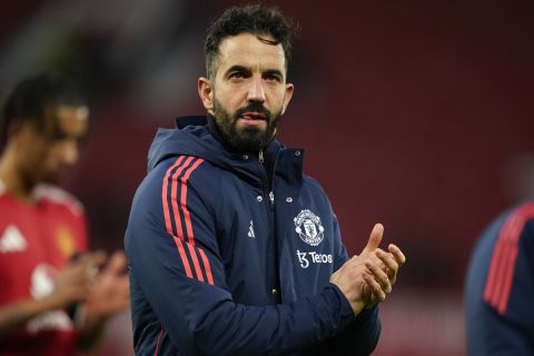
{"label": "blurred red football jersey on the player at left", "polygon": [[[0,305],[43,298],[75,253],[87,249],[87,220],[79,201],[53,186],[34,191],[37,202],[13,198],[0,185]],[[0,355],[73,355],[76,328],[65,310],[29,320],[6,340]]]}

